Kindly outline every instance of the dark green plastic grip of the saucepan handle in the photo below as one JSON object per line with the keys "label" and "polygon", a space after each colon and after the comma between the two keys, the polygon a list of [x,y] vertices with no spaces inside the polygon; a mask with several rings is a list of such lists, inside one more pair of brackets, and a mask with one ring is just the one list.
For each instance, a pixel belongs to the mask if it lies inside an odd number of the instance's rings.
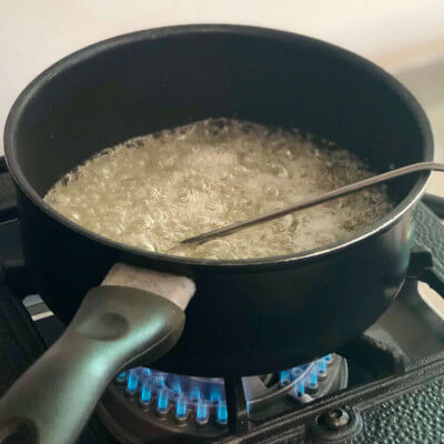
{"label": "dark green plastic grip of the saucepan handle", "polygon": [[134,356],[167,353],[184,320],[176,304],[143,290],[90,290],[63,335],[0,401],[0,444],[73,443],[114,375]]}

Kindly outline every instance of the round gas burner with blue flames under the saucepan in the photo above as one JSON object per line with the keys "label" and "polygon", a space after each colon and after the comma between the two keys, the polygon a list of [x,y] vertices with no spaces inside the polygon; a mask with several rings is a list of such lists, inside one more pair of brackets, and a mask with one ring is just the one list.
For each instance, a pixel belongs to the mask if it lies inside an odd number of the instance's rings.
{"label": "round gas burner with blue flames under the saucepan", "polygon": [[[278,373],[242,379],[248,414],[262,421],[299,404],[309,403],[344,389],[347,369],[344,359],[329,354],[309,364]],[[163,373],[148,367],[121,373],[102,403],[102,418],[114,424],[114,434],[124,442],[131,436],[153,436],[176,432],[213,437],[228,432],[225,383],[220,377],[194,377]],[[124,421],[113,421],[112,417]],[[107,418],[109,421],[107,421]],[[117,423],[130,425],[122,431]],[[127,427],[125,427],[127,428]]]}

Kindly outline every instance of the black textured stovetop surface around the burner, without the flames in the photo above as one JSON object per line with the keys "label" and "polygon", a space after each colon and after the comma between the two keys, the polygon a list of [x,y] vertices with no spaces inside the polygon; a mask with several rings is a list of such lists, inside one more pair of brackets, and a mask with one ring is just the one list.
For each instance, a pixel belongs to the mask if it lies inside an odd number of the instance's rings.
{"label": "black textured stovetop surface around the burner, without the flames", "polygon": [[[22,258],[10,179],[2,171],[0,162],[0,395],[63,330],[57,319],[42,313],[41,303],[28,303],[34,320],[22,304],[33,291]],[[427,224],[433,223],[438,235],[438,220],[424,205],[420,211],[422,221],[426,218]],[[444,229],[442,234],[436,243],[444,239]],[[444,442],[444,321],[421,297],[416,281],[406,281],[386,313],[336,352],[347,361],[347,389],[258,422],[248,420],[240,400],[231,433],[211,442]],[[327,426],[323,420],[339,408],[349,416],[347,425]],[[196,440],[172,435],[164,441]],[[98,443],[117,441],[94,414],[79,444]]]}

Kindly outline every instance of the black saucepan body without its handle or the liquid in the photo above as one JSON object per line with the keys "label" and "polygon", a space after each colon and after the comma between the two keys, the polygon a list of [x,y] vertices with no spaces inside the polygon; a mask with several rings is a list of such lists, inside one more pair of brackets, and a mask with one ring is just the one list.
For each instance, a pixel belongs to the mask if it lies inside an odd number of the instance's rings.
{"label": "black saucepan body without its handle or the liquid", "polygon": [[353,239],[259,260],[128,248],[82,230],[42,201],[57,180],[99,150],[209,117],[295,127],[349,149],[377,172],[433,158],[416,100],[374,64],[334,46],[212,24],[107,40],[39,75],[7,122],[7,161],[36,289],[69,323],[115,262],[191,278],[198,290],[183,335],[154,365],[180,374],[261,374],[339,349],[400,290],[412,214],[428,173],[393,182],[396,208]]}

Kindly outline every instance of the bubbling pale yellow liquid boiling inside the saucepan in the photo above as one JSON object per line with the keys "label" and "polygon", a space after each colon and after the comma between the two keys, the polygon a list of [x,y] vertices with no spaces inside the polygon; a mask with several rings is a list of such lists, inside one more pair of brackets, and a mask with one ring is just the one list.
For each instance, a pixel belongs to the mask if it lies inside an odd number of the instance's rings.
{"label": "bubbling pale yellow liquid boiling inside the saucepan", "polygon": [[202,244],[180,241],[370,175],[352,153],[296,131],[209,119],[103,150],[44,200],[84,229],[127,245],[189,258],[266,258],[353,236],[392,209],[385,188]]}

